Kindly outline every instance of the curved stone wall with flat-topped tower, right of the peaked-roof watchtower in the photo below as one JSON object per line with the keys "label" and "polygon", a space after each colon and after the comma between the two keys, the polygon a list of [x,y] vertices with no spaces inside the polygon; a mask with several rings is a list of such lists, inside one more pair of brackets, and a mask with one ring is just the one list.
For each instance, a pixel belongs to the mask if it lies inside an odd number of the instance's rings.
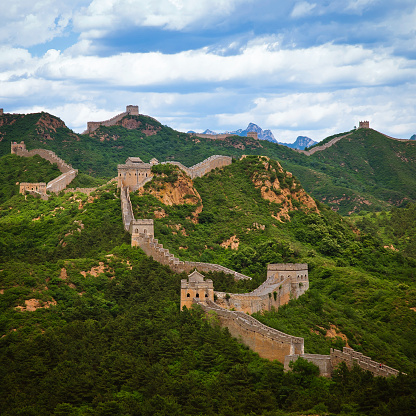
{"label": "curved stone wall with flat-topped tower, right of the peaked-roof watchtower", "polygon": [[293,263],[269,264],[267,279],[250,293],[215,292],[216,303],[225,309],[253,314],[278,309],[297,299],[309,289],[308,265]]}

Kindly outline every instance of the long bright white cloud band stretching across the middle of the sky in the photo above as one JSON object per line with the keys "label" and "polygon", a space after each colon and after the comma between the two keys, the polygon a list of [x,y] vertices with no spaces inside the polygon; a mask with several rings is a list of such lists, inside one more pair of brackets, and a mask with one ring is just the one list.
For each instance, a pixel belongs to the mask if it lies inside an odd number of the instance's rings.
{"label": "long bright white cloud band stretching across the middle of the sky", "polygon": [[239,82],[252,86],[377,86],[414,81],[416,62],[385,50],[325,44],[308,49],[246,47],[239,55],[219,56],[207,49],[176,54],[123,53],[111,57],[54,52],[33,73],[48,79],[83,80],[114,86]]}

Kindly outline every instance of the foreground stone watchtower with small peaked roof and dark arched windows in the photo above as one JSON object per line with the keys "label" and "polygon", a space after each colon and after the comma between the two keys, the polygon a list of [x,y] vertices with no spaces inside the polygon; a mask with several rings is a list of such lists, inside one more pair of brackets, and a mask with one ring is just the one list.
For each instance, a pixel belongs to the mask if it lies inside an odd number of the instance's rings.
{"label": "foreground stone watchtower with small peaked roof and dark arched windows", "polygon": [[181,280],[181,310],[184,306],[189,309],[194,298],[199,302],[214,302],[214,283],[211,279],[204,280],[204,276],[196,270],[188,276],[188,280]]}

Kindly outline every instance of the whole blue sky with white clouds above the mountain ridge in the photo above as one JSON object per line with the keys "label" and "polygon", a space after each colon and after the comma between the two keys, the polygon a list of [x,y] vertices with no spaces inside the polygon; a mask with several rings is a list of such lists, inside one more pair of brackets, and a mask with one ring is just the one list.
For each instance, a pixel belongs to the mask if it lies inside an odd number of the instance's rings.
{"label": "whole blue sky with white clouds above the mountain ridge", "polygon": [[180,131],[416,133],[414,0],[0,0],[0,107],[82,132],[136,104]]}

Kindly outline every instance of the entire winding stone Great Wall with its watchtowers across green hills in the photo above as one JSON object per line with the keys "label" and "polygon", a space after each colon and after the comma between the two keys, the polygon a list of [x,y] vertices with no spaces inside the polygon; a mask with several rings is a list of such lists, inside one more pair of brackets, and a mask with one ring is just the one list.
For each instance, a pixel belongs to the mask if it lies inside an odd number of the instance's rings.
{"label": "entire winding stone Great Wall with its watchtowers across green hills", "polygon": [[[88,123],[87,133],[91,133],[100,125],[113,125],[125,115],[137,115],[137,106],[127,106],[126,112],[113,117],[105,122]],[[360,128],[369,128],[368,122]],[[351,134],[351,133],[349,133]],[[349,134],[336,137],[323,146],[318,146],[309,152],[300,151],[305,154],[313,154],[316,151],[324,150]],[[387,136],[388,137],[388,136]],[[58,178],[48,184],[21,183],[21,193],[32,193],[47,198],[47,191],[60,192],[64,190],[75,178],[78,171],[65,163],[54,152],[45,149],[26,150],[23,142],[11,144],[11,152],[18,156],[30,157],[35,154],[56,163],[62,172]],[[231,164],[232,160],[227,156],[211,156],[210,158],[190,168],[179,162],[171,163],[182,169],[191,179],[201,177],[215,168],[222,168]],[[140,158],[128,158],[124,165],[118,165],[117,186],[120,188],[120,200],[123,225],[126,231],[131,234],[131,245],[140,247],[147,256],[161,264],[167,265],[176,273],[190,273],[188,279],[181,281],[181,303],[180,307],[192,307],[199,305],[205,314],[214,319],[223,327],[227,327],[230,334],[239,339],[260,357],[269,360],[277,360],[284,364],[286,371],[289,371],[290,363],[299,357],[314,363],[318,366],[320,374],[331,377],[333,370],[341,363],[346,363],[352,368],[358,365],[360,368],[371,372],[375,376],[389,377],[397,376],[399,371],[384,364],[371,360],[371,358],[344,347],[343,351],[331,349],[329,355],[305,354],[304,339],[285,334],[274,328],[267,327],[249,314],[265,310],[278,309],[281,305],[287,304],[291,299],[296,299],[305,293],[309,288],[307,264],[269,264],[267,268],[266,281],[250,293],[229,294],[215,292],[212,280],[205,279],[199,272],[223,272],[232,275],[234,279],[251,279],[241,273],[230,270],[224,266],[181,261],[165,249],[162,244],[154,238],[154,223],[152,219],[135,219],[130,200],[130,191],[137,191],[147,182],[151,181],[153,174],[151,167],[159,162],[152,159],[150,163],[144,163]],[[116,179],[116,178],[115,178]],[[77,189],[89,193],[95,188]],[[69,191],[68,189],[66,191]],[[46,196],[46,198],[45,198]]]}

